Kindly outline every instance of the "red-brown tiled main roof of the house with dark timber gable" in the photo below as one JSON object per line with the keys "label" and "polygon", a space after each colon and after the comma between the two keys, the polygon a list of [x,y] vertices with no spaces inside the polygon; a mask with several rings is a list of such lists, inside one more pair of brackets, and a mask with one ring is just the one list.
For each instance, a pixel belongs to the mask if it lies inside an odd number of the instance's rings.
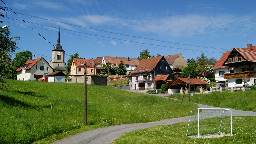
{"label": "red-brown tiled main roof of the house with dark timber gable", "polygon": [[162,58],[164,58],[164,56],[142,59],[131,74],[152,71]]}

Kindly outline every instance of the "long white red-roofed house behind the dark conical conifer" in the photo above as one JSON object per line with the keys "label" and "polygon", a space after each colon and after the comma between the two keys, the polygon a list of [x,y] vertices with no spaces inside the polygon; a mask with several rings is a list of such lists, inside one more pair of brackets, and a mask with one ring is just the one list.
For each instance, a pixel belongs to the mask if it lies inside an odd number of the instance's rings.
{"label": "long white red-roofed house behind the dark conical conifer", "polygon": [[[96,58],[97,59],[97,58]],[[95,60],[96,60],[95,59]],[[102,64],[114,64],[115,65],[115,70],[117,70],[118,65],[120,63],[120,61],[123,61],[124,65],[125,65],[125,70],[126,70],[126,75],[130,74],[136,67],[137,65],[140,63],[140,61],[138,60],[138,58],[125,58],[125,57],[111,57],[111,56],[103,56],[102,57]]]}

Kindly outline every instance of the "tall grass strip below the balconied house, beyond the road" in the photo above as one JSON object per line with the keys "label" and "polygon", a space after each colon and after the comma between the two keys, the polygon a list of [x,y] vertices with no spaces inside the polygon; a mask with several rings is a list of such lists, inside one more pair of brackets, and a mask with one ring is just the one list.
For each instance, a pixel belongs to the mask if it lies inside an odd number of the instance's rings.
{"label": "tall grass strip below the balconied house, beyond the road", "polygon": [[[174,94],[169,97],[181,99],[182,95]],[[184,99],[188,101],[188,94]],[[191,98],[190,98],[191,100]],[[193,103],[205,104],[221,108],[232,108],[245,111],[256,111],[256,91],[216,91],[211,94],[194,94]]]}

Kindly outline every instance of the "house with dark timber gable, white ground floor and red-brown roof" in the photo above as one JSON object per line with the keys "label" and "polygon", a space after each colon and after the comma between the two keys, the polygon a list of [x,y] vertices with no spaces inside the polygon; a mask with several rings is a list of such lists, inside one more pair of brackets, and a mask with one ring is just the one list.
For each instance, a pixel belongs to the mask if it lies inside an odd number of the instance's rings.
{"label": "house with dark timber gable, white ground floor and red-brown roof", "polygon": [[[172,78],[172,73],[172,68],[164,56],[143,59],[131,72],[130,89],[147,90],[161,88],[163,83],[166,84],[166,80]],[[162,77],[161,75],[165,76]]]}

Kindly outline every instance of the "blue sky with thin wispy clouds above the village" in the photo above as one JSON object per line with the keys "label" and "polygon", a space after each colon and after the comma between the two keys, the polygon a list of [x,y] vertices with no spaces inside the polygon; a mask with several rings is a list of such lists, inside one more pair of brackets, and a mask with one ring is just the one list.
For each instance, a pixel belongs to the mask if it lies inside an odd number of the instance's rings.
{"label": "blue sky with thin wispy clouds above the village", "polygon": [[[254,0],[3,0],[8,8],[2,26],[19,36],[18,47],[51,61],[53,45],[65,54],[78,52],[91,59],[102,56],[137,58],[142,50],[184,58],[217,60],[232,48],[256,45]],[[2,1],[2,7],[7,7]],[[65,61],[68,56],[65,55]]]}

